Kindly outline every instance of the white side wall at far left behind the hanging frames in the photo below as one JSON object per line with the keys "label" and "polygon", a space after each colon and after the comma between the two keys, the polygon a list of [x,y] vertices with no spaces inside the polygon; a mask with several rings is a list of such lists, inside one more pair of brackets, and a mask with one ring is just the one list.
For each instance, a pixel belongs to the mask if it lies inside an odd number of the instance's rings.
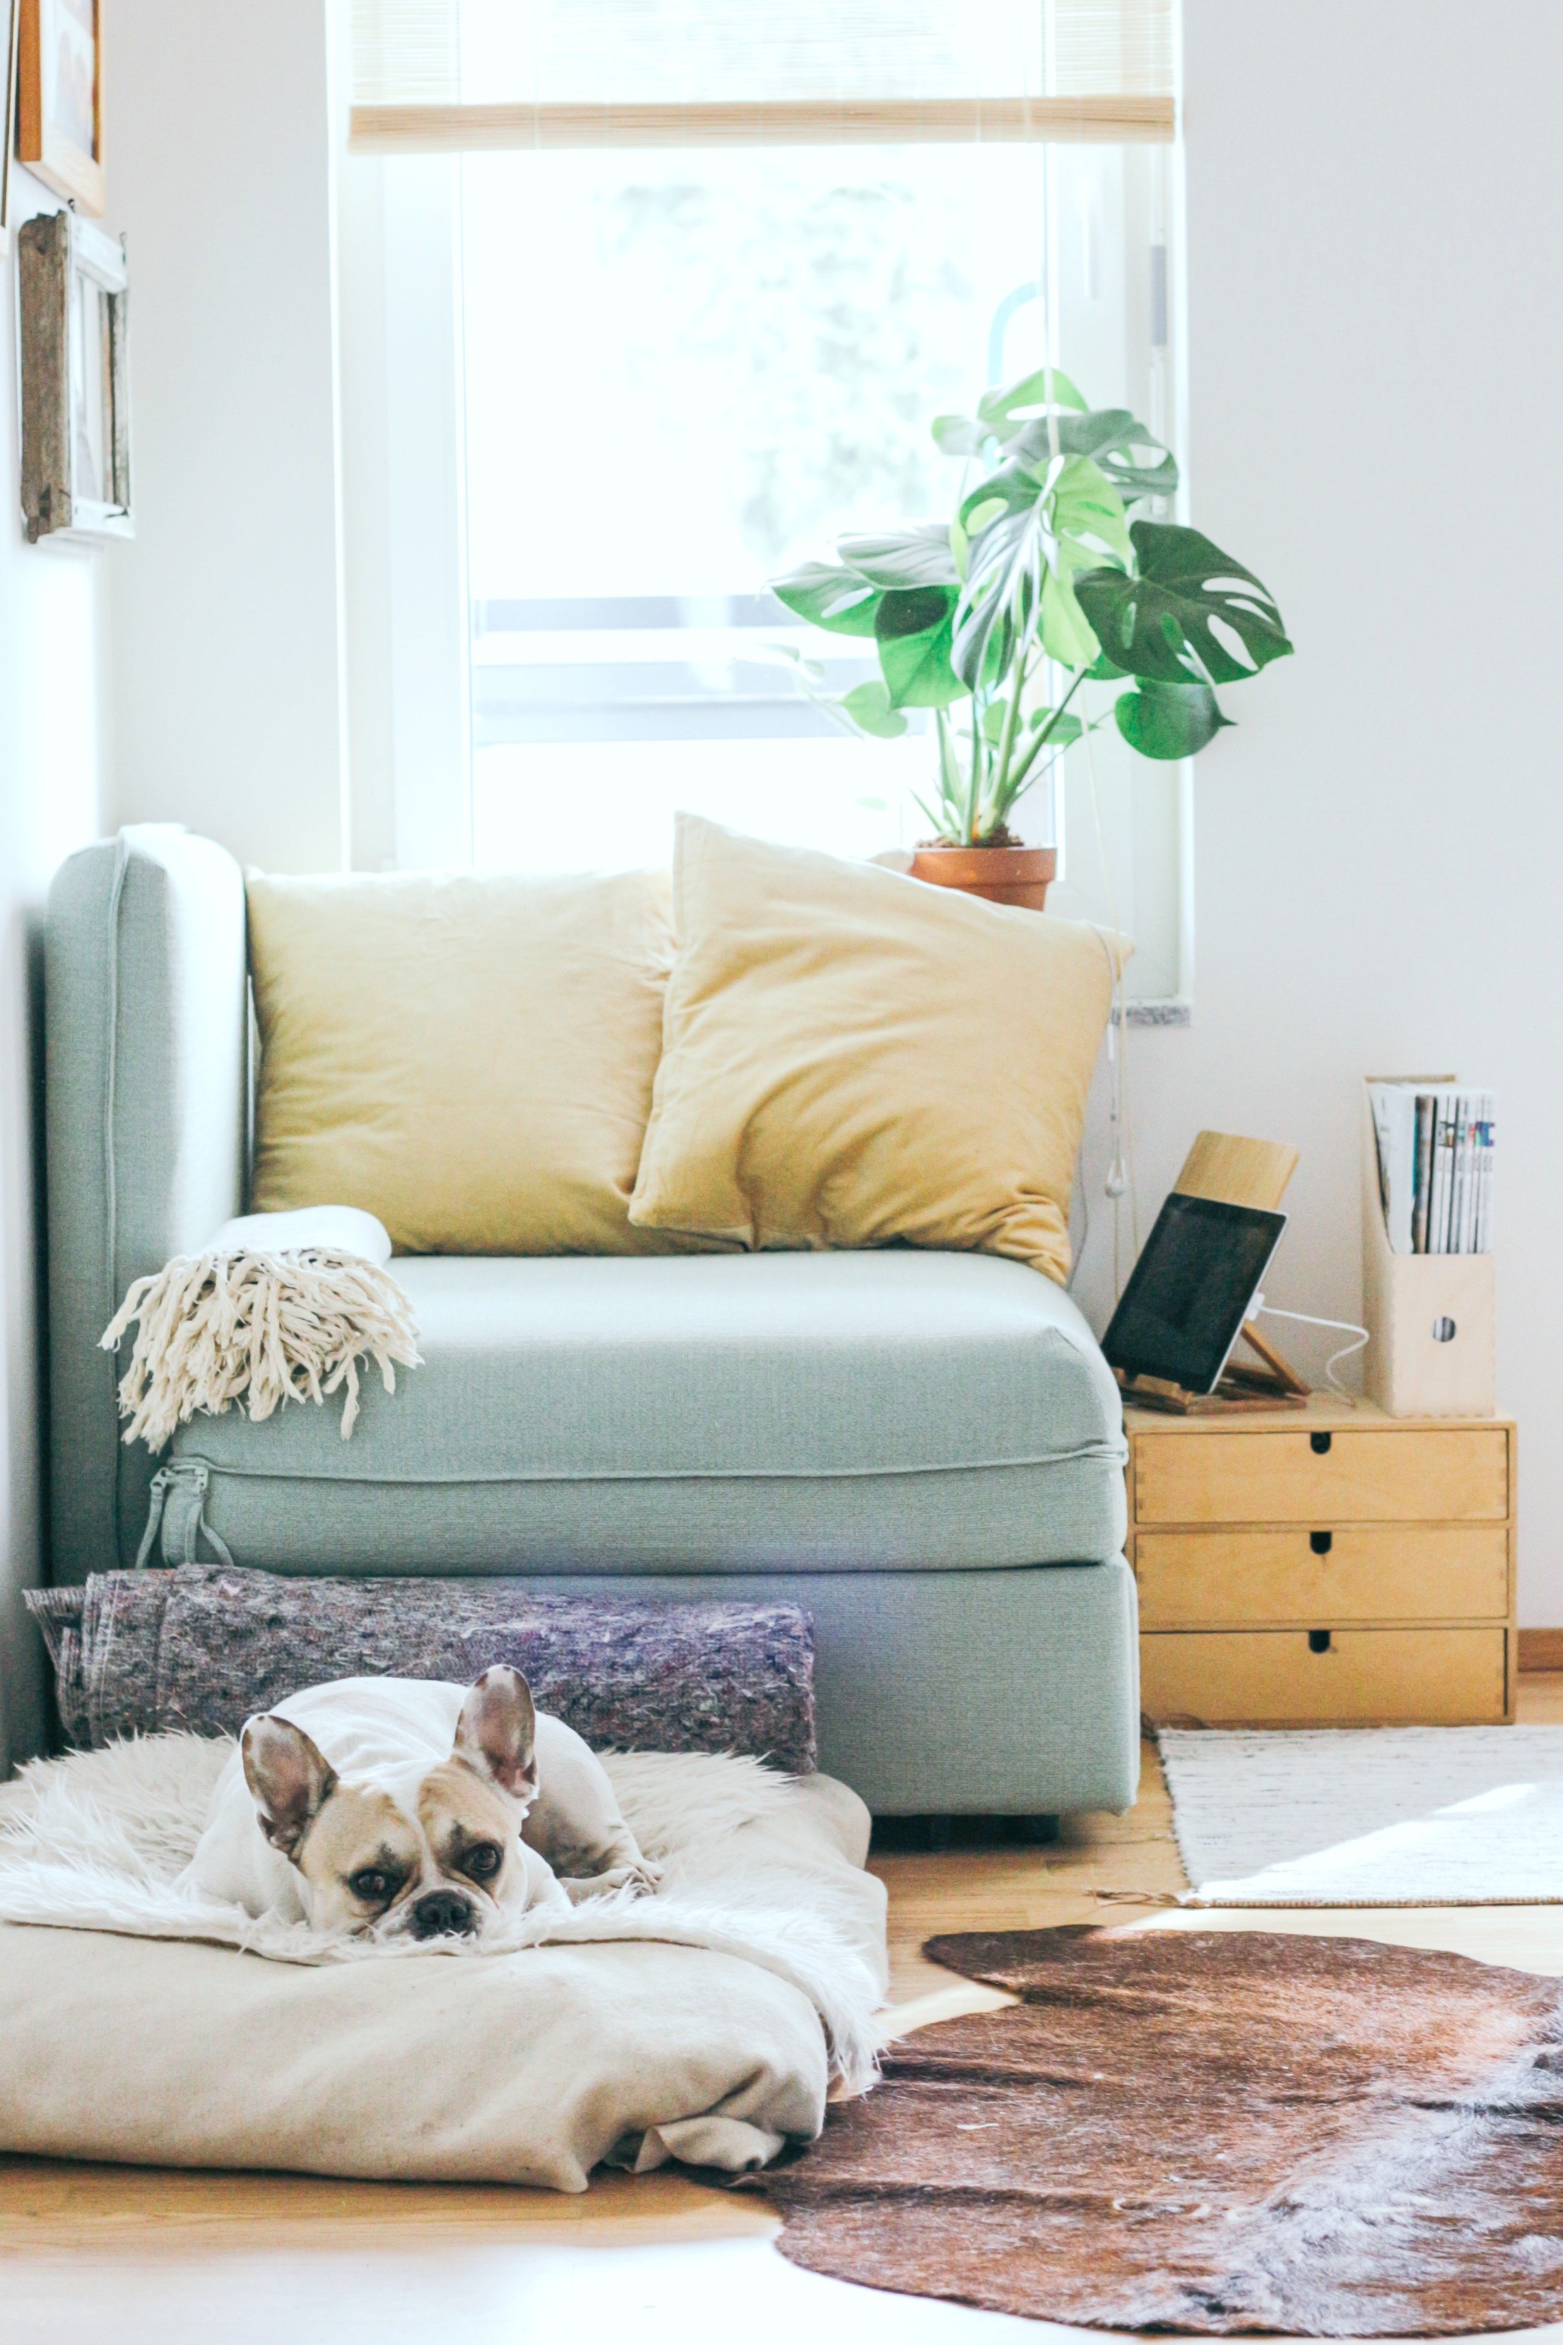
{"label": "white side wall at far left behind the hanging frames", "polygon": [[52,209],[12,181],[0,256],[0,1778],[37,1747],[37,1634],[21,1588],[42,1564],[35,1184],[37,936],[59,861],[98,832],[103,610],[112,549],[28,546],[16,441],[14,227]]}

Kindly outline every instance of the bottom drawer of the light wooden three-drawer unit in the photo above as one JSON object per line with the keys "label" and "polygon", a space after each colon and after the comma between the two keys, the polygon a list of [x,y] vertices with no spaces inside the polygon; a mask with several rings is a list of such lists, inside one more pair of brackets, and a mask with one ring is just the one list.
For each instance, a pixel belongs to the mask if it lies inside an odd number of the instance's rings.
{"label": "bottom drawer of the light wooden three-drawer unit", "polygon": [[[1319,1637],[1324,1630],[1317,1632]],[[1207,1726],[1500,1726],[1502,1627],[1197,1630],[1139,1639],[1151,1719]]]}

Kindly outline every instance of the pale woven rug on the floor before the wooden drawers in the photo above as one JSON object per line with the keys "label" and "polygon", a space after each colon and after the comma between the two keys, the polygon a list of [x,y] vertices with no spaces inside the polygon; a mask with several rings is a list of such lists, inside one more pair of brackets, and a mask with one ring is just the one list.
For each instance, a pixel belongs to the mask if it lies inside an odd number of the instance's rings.
{"label": "pale woven rug on the floor before the wooden drawers", "polygon": [[1158,1740],[1188,1904],[1563,1904],[1563,1726]]}

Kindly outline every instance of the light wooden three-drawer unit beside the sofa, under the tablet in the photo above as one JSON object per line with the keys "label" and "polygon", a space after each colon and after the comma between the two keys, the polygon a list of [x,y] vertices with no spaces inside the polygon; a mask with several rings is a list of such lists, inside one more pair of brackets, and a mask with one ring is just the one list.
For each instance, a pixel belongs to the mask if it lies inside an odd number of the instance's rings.
{"label": "light wooden three-drawer unit beside the sofa, under the tablet", "polygon": [[1226,1726],[1514,1717],[1514,1428],[1127,1412],[1144,1707]]}

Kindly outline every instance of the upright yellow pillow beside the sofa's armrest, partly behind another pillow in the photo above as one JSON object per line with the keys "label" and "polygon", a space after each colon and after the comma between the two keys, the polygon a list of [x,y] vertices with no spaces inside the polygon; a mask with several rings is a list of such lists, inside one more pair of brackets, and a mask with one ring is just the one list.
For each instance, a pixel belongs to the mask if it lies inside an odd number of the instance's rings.
{"label": "upright yellow pillow beside the sofa's armrest, partly behind another pillow", "polygon": [[398,1255],[647,1255],[628,1224],[668,882],[248,875],[253,1208],[363,1205]]}

